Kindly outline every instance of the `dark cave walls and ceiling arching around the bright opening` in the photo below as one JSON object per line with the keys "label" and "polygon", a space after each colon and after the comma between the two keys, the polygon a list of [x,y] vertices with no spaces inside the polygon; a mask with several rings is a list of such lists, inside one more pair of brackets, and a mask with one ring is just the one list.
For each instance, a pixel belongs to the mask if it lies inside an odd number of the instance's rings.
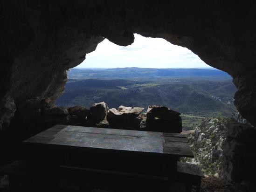
{"label": "dark cave walls and ceiling arching around the bright opening", "polygon": [[[235,106],[256,126],[254,1],[4,0],[0,5],[0,140],[7,159],[13,158],[10,150],[22,139],[45,126],[34,120],[55,106],[65,89],[67,69],[83,62],[104,38],[127,46],[135,33],[186,47],[231,75],[238,89]],[[30,128],[22,126],[24,119]],[[249,154],[239,158],[255,159],[251,154],[255,129],[238,126],[234,135],[239,136],[239,143],[234,139],[231,147],[240,144],[249,149]],[[256,170],[252,160],[248,164],[246,168]],[[235,168],[227,165],[226,169]],[[235,170],[236,175],[240,171]]]}

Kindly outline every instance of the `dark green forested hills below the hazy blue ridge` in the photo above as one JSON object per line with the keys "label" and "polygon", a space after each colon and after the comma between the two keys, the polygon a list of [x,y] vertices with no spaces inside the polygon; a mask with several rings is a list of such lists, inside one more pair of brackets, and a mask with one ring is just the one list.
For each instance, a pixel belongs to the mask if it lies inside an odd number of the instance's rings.
{"label": "dark green forested hills below the hazy blue ridge", "polygon": [[235,111],[235,86],[231,80],[213,82],[191,79],[138,80],[71,80],[66,84],[58,106],[83,105],[106,102],[110,108],[120,105],[144,107],[164,105],[181,113],[231,116]]}

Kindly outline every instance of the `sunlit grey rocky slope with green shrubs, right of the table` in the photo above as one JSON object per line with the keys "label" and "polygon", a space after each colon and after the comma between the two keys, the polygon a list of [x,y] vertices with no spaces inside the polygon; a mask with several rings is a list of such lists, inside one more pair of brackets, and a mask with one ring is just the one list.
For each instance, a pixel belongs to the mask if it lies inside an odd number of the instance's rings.
{"label": "sunlit grey rocky slope with green shrubs, right of the table", "polygon": [[186,161],[198,164],[206,175],[217,175],[229,122],[233,122],[232,118],[205,118],[195,126],[194,133],[187,135],[194,158]]}

